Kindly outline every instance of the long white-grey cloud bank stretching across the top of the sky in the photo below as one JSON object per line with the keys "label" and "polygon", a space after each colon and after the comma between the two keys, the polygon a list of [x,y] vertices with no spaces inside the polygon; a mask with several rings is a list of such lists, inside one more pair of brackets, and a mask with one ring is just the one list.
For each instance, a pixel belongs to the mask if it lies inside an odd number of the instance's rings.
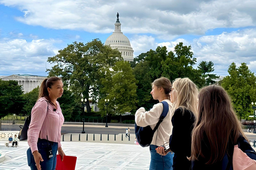
{"label": "long white-grey cloud bank stretching across the top of the sky", "polygon": [[[24,12],[17,20],[52,29],[113,31],[116,12],[126,33],[153,33],[158,38],[203,35],[214,28],[249,27],[256,23],[256,1],[28,1],[0,0]],[[185,5],[187,4],[187,5]]]}

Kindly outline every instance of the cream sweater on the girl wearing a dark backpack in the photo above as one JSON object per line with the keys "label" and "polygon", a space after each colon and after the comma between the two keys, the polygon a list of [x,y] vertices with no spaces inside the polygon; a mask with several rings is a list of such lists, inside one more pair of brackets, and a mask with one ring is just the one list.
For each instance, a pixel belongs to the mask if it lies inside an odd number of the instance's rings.
{"label": "cream sweater on the girl wearing a dark backpack", "polygon": [[[165,99],[169,105],[169,112],[164,118],[163,122],[158,126],[158,129],[154,133],[151,145],[161,146],[164,141],[169,142],[170,135],[172,134],[172,115],[173,115],[173,105],[170,100]],[[158,103],[146,112],[144,107],[138,109],[135,113],[135,122],[138,126],[146,127],[150,125],[151,129],[154,129],[159,117],[163,112],[163,104]]]}

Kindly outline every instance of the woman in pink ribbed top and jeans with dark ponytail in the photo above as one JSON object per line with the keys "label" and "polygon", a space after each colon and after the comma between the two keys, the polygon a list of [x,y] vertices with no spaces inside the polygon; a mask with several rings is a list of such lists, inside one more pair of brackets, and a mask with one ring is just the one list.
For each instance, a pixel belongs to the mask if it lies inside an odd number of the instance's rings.
{"label": "woman in pink ribbed top and jeans with dark ponytail", "polygon": [[28,129],[28,165],[32,170],[55,169],[61,149],[61,126],[64,117],[57,99],[63,94],[63,83],[58,77],[45,79],[39,88],[39,97],[31,111]]}

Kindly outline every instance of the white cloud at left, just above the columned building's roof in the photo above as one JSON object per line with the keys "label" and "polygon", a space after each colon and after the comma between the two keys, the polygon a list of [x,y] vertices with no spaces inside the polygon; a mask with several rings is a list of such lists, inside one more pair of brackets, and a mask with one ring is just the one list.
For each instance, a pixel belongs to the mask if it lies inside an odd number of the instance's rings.
{"label": "white cloud at left, just above the columned building's roof", "polygon": [[10,75],[22,70],[22,73],[42,75],[47,58],[56,54],[54,43],[57,42],[45,39],[0,40],[0,72]]}

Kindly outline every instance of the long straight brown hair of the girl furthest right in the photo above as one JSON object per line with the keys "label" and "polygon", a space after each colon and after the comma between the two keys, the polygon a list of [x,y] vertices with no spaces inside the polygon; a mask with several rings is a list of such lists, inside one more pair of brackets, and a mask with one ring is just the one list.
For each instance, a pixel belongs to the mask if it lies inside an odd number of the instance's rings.
{"label": "long straight brown hair of the girl furthest right", "polygon": [[[198,156],[206,158],[206,164],[213,164],[223,159],[227,152],[228,142],[236,145],[239,135],[247,140],[242,125],[236,117],[227,92],[221,86],[207,86],[199,92],[198,118],[192,132],[191,160]],[[202,150],[204,135],[209,141],[210,151]],[[248,141],[248,140],[247,140]]]}

